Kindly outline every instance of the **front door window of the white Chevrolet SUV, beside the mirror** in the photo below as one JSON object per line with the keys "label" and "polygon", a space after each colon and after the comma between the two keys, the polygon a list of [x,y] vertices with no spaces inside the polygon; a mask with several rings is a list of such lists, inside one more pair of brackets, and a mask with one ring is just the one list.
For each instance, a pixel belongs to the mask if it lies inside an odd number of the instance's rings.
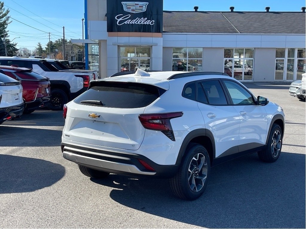
{"label": "front door window of the white Chevrolet SUV, beside the mirror", "polygon": [[224,80],[234,105],[255,105],[252,95],[237,83]]}

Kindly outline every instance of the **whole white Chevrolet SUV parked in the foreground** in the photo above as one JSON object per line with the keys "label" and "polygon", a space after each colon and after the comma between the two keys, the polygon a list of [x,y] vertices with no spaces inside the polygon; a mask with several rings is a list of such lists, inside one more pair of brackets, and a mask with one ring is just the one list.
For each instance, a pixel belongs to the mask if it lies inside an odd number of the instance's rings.
{"label": "whole white Chevrolet SUV parked in the foreground", "polygon": [[92,81],[64,118],[63,157],[84,175],[169,177],[187,200],[204,192],[211,166],[254,152],[276,161],[285,126],[281,107],[225,73],[141,69]]}

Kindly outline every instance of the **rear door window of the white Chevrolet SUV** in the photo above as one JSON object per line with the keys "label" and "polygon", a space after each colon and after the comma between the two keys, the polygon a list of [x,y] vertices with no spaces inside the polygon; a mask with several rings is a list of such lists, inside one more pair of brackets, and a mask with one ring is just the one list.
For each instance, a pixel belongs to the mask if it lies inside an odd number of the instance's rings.
{"label": "rear door window of the white Chevrolet SUV", "polygon": [[227,105],[227,100],[218,80],[203,81],[201,85],[211,105]]}

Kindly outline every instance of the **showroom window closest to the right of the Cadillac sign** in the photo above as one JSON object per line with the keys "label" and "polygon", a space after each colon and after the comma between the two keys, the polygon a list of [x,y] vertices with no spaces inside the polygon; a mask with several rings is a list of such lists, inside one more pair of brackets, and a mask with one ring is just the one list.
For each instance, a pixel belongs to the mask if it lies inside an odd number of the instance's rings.
{"label": "showroom window closest to the right of the Cadillac sign", "polygon": [[172,48],[172,71],[203,71],[203,48]]}

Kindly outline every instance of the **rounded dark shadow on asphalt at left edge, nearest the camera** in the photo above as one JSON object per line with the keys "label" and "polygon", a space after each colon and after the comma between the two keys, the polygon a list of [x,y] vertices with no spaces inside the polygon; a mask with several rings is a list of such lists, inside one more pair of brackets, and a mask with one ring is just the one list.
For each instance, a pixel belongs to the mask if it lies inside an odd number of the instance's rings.
{"label": "rounded dark shadow on asphalt at left edge, nearest the camera", "polygon": [[55,184],[65,175],[60,164],[0,154],[0,194],[32,192]]}

